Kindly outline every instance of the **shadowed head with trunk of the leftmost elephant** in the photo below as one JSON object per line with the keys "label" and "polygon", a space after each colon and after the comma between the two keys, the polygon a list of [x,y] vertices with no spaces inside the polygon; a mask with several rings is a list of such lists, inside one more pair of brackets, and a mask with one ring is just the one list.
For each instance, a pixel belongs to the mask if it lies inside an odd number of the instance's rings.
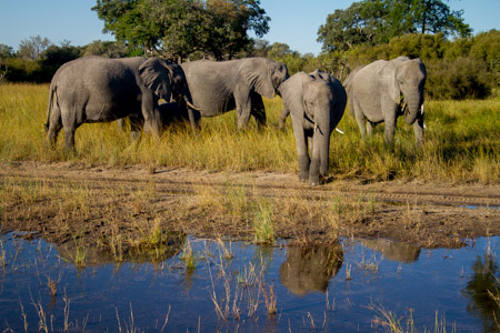
{"label": "shadowed head with trunk of the leftmost elephant", "polygon": [[196,115],[193,110],[199,111],[199,109],[192,104],[191,93],[182,68],[164,59],[151,58],[139,67],[139,74],[144,85],[158,98],[170,102],[179,95],[182,97],[188,105],[189,120],[194,130]]}

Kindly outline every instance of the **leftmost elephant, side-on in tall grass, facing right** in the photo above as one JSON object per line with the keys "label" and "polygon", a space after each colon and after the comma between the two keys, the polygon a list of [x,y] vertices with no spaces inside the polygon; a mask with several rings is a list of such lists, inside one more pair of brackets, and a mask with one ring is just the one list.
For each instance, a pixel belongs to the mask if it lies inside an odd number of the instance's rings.
{"label": "leftmost elephant, side-on in tall grass, facing right", "polygon": [[[47,139],[53,147],[63,128],[64,149],[74,150],[74,131],[81,124],[136,114],[143,117],[146,131],[159,135],[158,101],[170,101],[172,94],[191,103],[182,68],[163,59],[86,57],[70,61],[50,84]],[[191,109],[189,118],[194,125]]]}

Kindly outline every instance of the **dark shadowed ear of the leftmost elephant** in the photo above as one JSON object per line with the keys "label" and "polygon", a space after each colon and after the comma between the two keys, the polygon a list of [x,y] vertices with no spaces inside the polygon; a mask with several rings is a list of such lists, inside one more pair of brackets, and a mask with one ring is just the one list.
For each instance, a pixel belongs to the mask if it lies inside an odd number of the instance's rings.
{"label": "dark shadowed ear of the leftmost elephant", "polygon": [[170,101],[173,71],[167,61],[151,58],[139,67],[139,74],[144,85],[157,97]]}

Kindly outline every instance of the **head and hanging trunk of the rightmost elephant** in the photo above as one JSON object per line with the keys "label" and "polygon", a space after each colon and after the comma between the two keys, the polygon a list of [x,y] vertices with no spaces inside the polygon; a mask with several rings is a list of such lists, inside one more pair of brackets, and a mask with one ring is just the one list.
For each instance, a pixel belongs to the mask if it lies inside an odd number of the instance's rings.
{"label": "head and hanging trunk of the rightmost elephant", "polygon": [[420,59],[398,57],[388,61],[380,74],[391,100],[398,105],[403,101],[407,105],[404,121],[413,124],[423,105],[426,65]]}

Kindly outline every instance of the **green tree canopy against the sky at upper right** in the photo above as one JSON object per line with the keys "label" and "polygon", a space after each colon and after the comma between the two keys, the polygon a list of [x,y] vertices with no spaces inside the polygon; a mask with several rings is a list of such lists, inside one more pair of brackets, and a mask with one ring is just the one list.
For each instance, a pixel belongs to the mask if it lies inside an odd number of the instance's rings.
{"label": "green tree canopy against the sky at upper right", "polygon": [[329,14],[318,30],[324,51],[374,46],[407,33],[469,37],[472,29],[441,0],[363,0]]}

